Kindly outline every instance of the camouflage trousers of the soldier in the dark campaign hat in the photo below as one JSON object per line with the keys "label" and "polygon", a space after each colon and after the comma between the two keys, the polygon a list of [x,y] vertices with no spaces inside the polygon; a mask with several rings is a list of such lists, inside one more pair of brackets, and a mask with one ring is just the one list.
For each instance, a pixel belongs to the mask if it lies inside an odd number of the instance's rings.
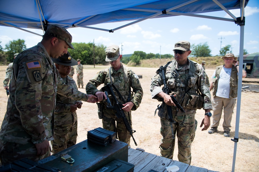
{"label": "camouflage trousers of the soldier in the dark campaign hat", "polygon": [[52,153],[60,152],[76,144],[77,139],[77,121],[73,122],[73,116],[63,124],[54,124],[54,140],[51,141]]}

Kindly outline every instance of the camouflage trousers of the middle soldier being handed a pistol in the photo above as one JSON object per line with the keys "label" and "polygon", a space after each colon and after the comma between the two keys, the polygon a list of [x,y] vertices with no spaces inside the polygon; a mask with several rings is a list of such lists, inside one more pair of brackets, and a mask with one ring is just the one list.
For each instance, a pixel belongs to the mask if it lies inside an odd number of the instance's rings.
{"label": "camouflage trousers of the middle soldier being handed a pistol", "polygon": [[[125,112],[125,116],[132,127],[131,111]],[[116,121],[116,124],[115,124]],[[103,110],[103,128],[109,131],[117,132],[118,139],[121,142],[127,143],[130,146],[130,132],[127,131],[122,118],[117,118],[113,110]]]}

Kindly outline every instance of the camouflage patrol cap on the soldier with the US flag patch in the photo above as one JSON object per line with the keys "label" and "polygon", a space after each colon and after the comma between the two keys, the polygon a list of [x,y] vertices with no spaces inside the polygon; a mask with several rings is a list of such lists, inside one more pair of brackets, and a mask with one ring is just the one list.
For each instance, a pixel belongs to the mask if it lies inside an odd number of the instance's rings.
{"label": "camouflage patrol cap on the soldier with the US flag patch", "polygon": [[57,24],[52,24],[48,27],[48,29],[45,32],[46,35],[56,37],[58,39],[61,39],[65,41],[68,44],[68,47],[71,49],[75,49],[73,45],[71,44],[72,42],[72,36],[69,34],[69,32],[63,28],[60,25]]}

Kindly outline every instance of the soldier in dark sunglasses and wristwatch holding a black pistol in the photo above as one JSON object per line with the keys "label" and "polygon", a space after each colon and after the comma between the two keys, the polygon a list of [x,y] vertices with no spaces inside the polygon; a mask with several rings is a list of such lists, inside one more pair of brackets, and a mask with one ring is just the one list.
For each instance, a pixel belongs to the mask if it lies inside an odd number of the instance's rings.
{"label": "soldier in dark sunglasses and wristwatch holding a black pistol", "polygon": [[[191,144],[195,137],[197,121],[195,120],[196,109],[203,107],[205,117],[200,127],[204,125],[203,130],[207,130],[210,126],[210,110],[212,109],[210,83],[208,76],[202,69],[202,66],[188,59],[190,55],[190,43],[188,41],[180,41],[175,44],[174,58],[171,63],[168,62],[166,68],[166,83],[171,91],[171,95],[175,94],[176,100],[185,110],[185,113],[175,108],[170,95],[167,95],[160,88],[163,80],[159,75],[160,70],[152,78],[150,91],[152,99],[163,99],[164,103],[171,106],[172,117],[176,123],[173,125],[174,134],[178,138],[178,160],[187,164],[191,164]],[[200,92],[204,100],[200,100],[197,92]],[[162,98],[162,99],[161,99]],[[160,143],[160,153],[162,157],[173,158],[175,139],[172,138],[172,130],[170,121],[167,117],[166,105],[162,104],[159,108],[158,115],[160,117],[162,135]]]}

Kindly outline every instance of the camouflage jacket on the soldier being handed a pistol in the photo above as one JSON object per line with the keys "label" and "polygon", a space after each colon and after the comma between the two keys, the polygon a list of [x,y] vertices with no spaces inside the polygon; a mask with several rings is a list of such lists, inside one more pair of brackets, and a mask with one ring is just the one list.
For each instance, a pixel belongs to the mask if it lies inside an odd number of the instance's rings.
{"label": "camouflage jacket on the soldier being handed a pistol", "polygon": [[[91,80],[89,80],[88,84],[85,87],[87,94],[95,94],[97,91],[99,91],[97,89],[99,85],[107,85],[107,83],[111,83],[109,77],[109,70],[110,68],[104,69],[98,72]],[[128,72],[126,73],[128,75],[127,81],[125,81],[125,71],[123,65],[121,65],[121,68],[118,71],[114,70],[111,67],[111,76],[113,84],[118,89],[120,94],[125,98],[125,101],[127,100],[129,95],[129,86],[133,89],[131,91],[133,91],[135,94],[134,97],[131,99],[131,101],[134,103],[132,110],[136,110],[141,103],[143,97],[143,90],[138,76],[131,69],[128,69]],[[116,91],[114,91],[114,93],[117,95]]]}

